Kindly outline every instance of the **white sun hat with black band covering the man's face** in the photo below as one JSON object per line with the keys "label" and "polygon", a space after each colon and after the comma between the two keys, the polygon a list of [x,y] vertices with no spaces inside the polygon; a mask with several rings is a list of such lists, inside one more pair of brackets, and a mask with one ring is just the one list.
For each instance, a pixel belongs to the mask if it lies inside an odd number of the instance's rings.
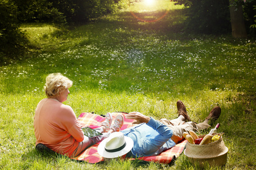
{"label": "white sun hat with black band covering the man's face", "polygon": [[98,153],[104,158],[117,158],[127,154],[133,148],[133,139],[122,132],[114,132],[98,145]]}

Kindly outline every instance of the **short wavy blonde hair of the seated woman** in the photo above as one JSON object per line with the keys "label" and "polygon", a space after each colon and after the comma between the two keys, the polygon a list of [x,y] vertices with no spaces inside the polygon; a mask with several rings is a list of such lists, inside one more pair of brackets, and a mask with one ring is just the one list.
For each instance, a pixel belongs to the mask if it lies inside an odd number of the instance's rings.
{"label": "short wavy blonde hair of the seated woman", "polygon": [[57,96],[59,92],[65,90],[65,88],[70,88],[72,85],[73,82],[67,77],[60,73],[52,73],[46,78],[44,91],[46,91],[47,97],[54,97]]}

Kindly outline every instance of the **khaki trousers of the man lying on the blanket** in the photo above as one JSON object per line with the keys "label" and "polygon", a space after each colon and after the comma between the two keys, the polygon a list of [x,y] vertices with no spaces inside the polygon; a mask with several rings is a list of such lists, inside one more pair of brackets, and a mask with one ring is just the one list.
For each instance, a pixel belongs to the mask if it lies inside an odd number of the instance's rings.
{"label": "khaki trousers of the man lying on the blanket", "polygon": [[195,124],[195,122],[184,122],[181,121],[179,118],[176,118],[174,120],[167,120],[166,118],[162,118],[160,120],[162,124],[167,125],[170,129],[173,131],[173,135],[171,137],[172,141],[174,141],[176,144],[179,143],[179,141],[183,140],[183,133],[184,131],[193,130],[203,130],[210,127],[209,124],[202,122],[200,124]]}

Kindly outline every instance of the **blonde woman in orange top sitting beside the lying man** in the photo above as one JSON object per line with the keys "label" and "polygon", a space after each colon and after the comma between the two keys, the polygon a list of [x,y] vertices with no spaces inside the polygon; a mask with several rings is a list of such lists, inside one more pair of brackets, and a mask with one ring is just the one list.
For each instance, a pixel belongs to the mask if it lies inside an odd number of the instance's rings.
{"label": "blonde woman in orange top sitting beside the lying man", "polygon": [[[114,131],[119,131],[123,124],[123,116],[118,115],[110,126],[112,116],[107,113],[102,126],[95,129],[102,135],[86,137],[73,109],[63,104],[72,84],[71,80],[60,73],[49,74],[44,86],[47,98],[38,103],[34,117],[36,145],[42,143],[51,150],[69,157],[79,155],[89,146],[109,137]],[[107,129],[108,133],[105,133]]]}

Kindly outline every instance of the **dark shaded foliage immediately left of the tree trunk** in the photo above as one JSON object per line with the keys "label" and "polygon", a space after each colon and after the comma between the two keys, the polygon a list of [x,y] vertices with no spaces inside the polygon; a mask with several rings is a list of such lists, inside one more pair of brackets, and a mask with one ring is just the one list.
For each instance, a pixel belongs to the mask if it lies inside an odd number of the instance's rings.
{"label": "dark shaded foliage immediately left of the tree trunk", "polygon": [[188,32],[222,34],[231,31],[229,0],[175,0],[188,6]]}

